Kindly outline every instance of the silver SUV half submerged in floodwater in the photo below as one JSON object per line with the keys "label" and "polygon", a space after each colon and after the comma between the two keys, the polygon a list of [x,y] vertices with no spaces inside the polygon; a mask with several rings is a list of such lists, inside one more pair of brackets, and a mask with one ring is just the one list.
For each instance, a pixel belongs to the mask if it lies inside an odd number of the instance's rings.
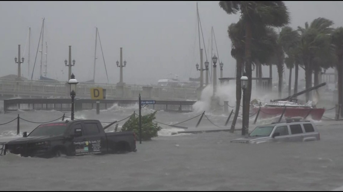
{"label": "silver SUV half submerged in floodwater", "polygon": [[247,137],[231,140],[240,143],[263,143],[280,141],[317,141],[320,133],[310,121],[279,122],[257,126]]}

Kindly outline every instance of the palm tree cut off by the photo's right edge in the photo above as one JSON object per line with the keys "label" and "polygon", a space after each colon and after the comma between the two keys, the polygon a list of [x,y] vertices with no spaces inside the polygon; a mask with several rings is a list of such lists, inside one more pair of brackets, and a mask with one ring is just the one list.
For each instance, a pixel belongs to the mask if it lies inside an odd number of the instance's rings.
{"label": "palm tree cut off by the photo's right edge", "polygon": [[341,105],[341,116],[343,116],[343,27],[336,28],[331,35],[331,42],[335,46],[335,54],[338,62],[338,104]]}

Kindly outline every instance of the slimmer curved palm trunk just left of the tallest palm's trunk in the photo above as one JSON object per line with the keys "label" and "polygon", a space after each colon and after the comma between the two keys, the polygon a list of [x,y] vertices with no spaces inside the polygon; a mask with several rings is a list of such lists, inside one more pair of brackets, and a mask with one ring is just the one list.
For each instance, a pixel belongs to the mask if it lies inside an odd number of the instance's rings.
{"label": "slimmer curved palm trunk just left of the tallest palm's trunk", "polygon": [[238,118],[238,113],[239,113],[239,108],[240,108],[240,100],[242,98],[242,87],[241,87],[241,82],[240,78],[242,76],[242,64],[243,64],[243,58],[242,57],[237,57],[236,59],[236,110],[235,110],[235,116],[234,120],[232,121],[231,124],[231,129],[230,132],[233,133],[235,131],[235,126]]}

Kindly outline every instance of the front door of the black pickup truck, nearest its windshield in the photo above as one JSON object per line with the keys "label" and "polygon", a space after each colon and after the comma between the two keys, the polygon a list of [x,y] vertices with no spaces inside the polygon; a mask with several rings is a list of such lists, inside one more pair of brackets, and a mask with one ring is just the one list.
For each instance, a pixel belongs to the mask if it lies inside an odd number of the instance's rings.
{"label": "front door of the black pickup truck, nearest its windshield", "polygon": [[72,125],[70,135],[73,136],[71,146],[69,150],[75,155],[85,155],[89,152],[87,144],[87,137],[84,134],[84,128],[81,123]]}

